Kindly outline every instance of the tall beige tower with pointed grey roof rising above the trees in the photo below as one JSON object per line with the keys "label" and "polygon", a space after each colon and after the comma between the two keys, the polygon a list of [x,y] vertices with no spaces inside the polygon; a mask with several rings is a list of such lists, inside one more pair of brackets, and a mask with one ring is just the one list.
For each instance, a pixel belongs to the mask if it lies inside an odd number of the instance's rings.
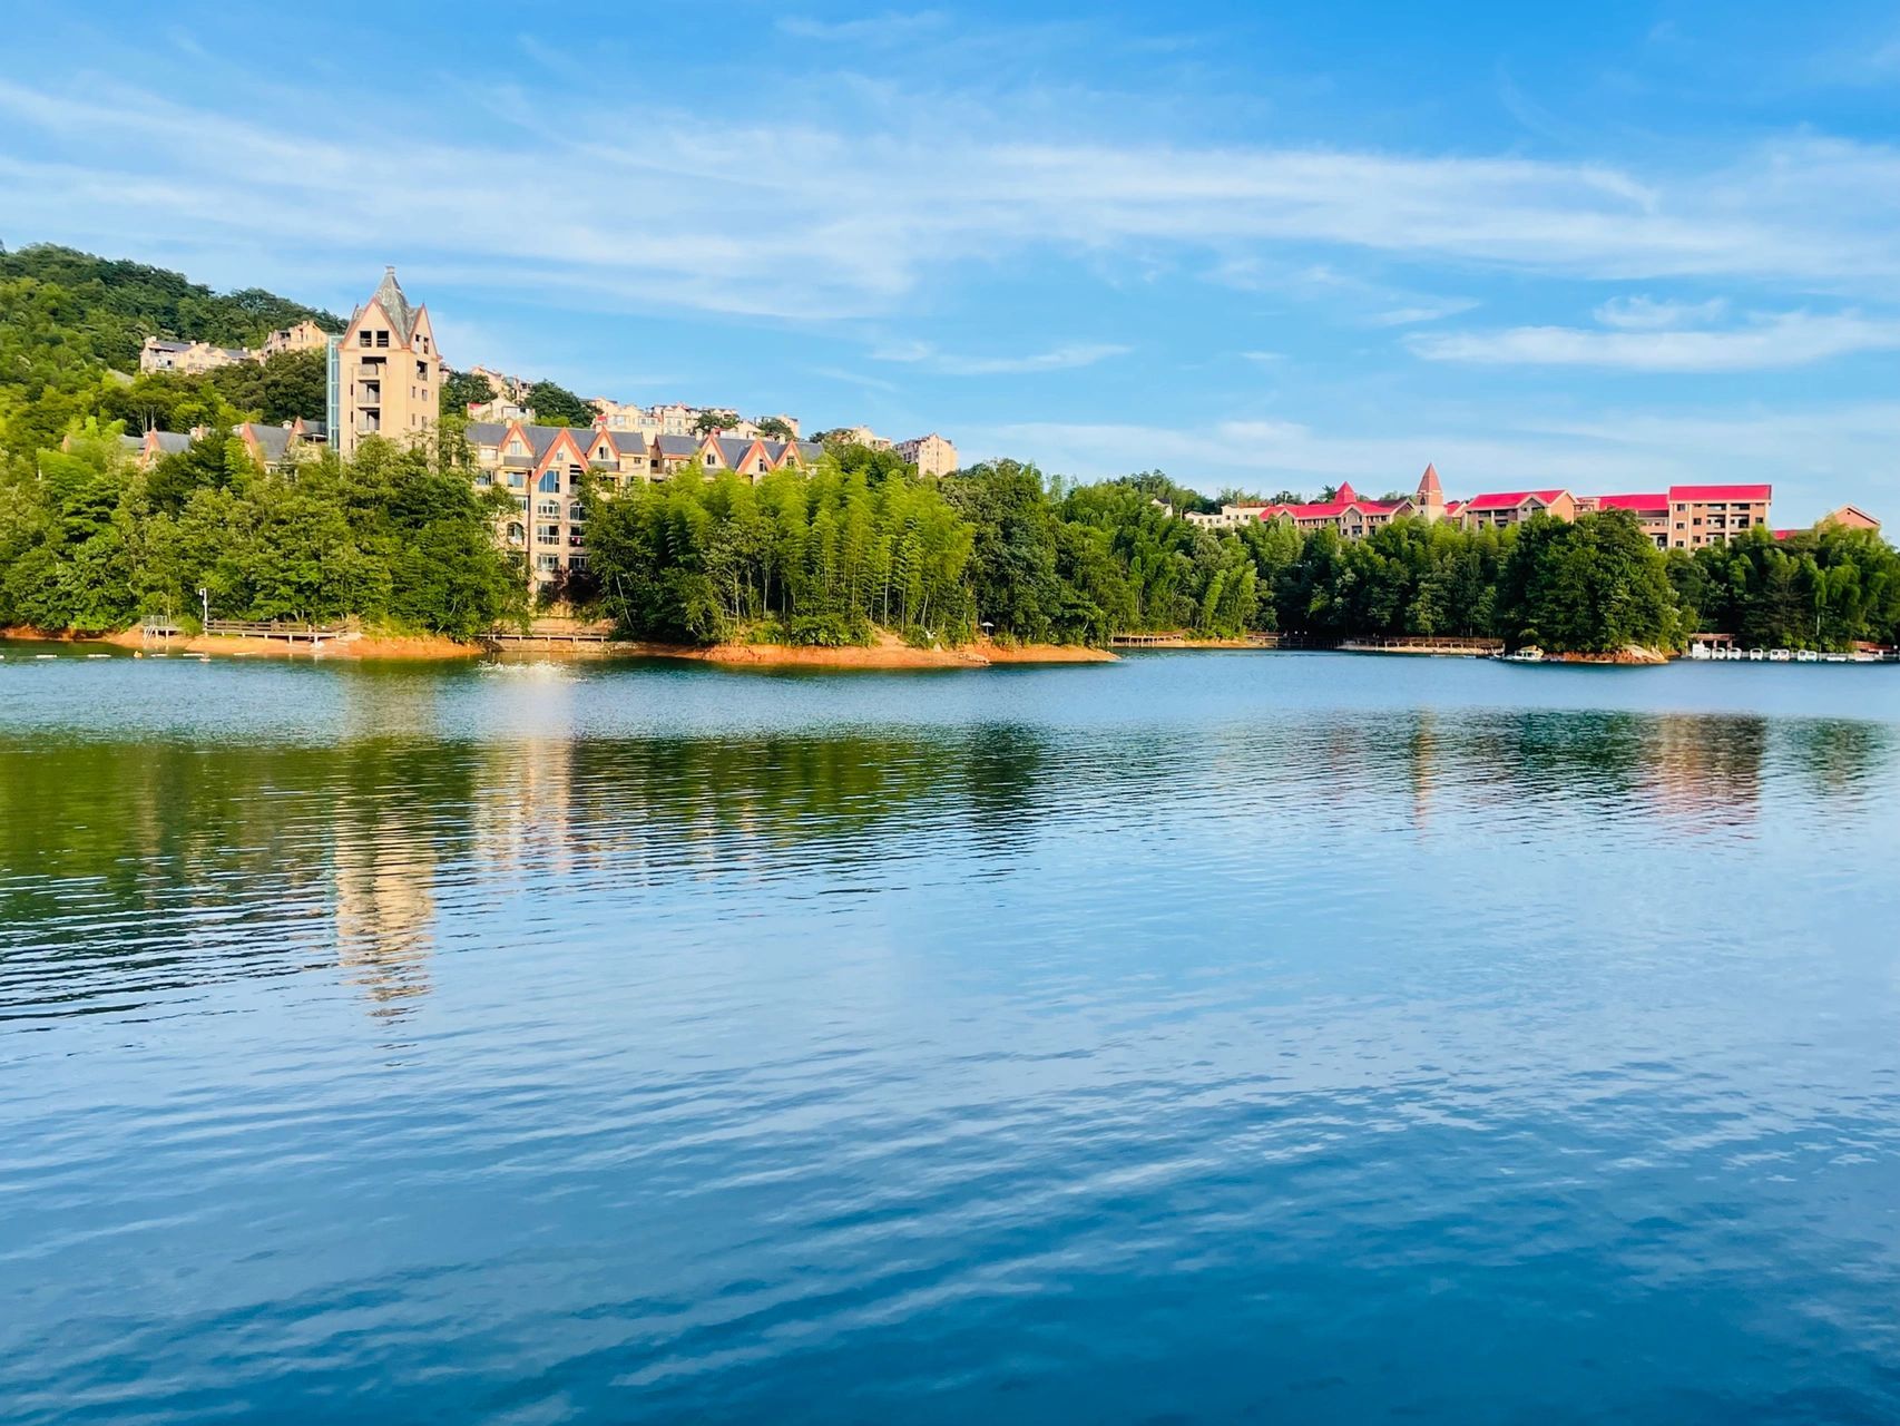
{"label": "tall beige tower with pointed grey roof rising above the trees", "polygon": [[428,435],[435,430],[443,369],[428,306],[410,306],[395,268],[384,268],[369,302],[331,342],[331,443],[350,456],[369,435]]}

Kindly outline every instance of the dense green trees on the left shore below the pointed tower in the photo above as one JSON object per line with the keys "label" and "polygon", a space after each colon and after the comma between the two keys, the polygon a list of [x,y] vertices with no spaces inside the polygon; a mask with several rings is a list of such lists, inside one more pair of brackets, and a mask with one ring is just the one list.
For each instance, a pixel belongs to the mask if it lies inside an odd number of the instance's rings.
{"label": "dense green trees on the left shore below the pointed tower", "polygon": [[228,432],[148,472],[118,426],[0,475],[0,626],[103,633],[141,614],[370,624],[473,637],[521,605],[494,508],[420,451],[369,441],[266,473]]}

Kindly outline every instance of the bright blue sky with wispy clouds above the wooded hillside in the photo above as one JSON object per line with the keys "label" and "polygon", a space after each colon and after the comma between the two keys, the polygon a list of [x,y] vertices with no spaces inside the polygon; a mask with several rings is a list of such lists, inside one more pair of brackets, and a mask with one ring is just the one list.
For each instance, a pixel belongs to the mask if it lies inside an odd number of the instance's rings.
{"label": "bright blue sky with wispy clouds above the wooded hillside", "polygon": [[0,0],[0,241],[1206,491],[1900,519],[1890,4]]}

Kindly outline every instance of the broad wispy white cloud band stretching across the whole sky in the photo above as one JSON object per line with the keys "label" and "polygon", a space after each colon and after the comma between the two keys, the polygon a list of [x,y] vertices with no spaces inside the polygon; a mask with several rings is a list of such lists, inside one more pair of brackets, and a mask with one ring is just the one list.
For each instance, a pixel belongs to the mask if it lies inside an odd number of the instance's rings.
{"label": "broad wispy white cloud band stretching across the whole sky", "polygon": [[[1123,264],[1201,253],[1501,266],[1586,279],[1723,278],[1900,297],[1900,150],[1790,139],[1689,173],[1271,145],[1026,141],[1041,110],[866,86],[826,118],[661,108],[505,86],[496,122],[429,139],[424,101],[357,127],[340,95],[234,118],[99,76],[0,82],[10,234],[116,243],[125,215],[238,257],[355,274],[429,255],[471,281],[800,319],[887,314],[961,262]],[[1022,101],[1030,105],[1028,99]],[[1083,103],[1083,101],[1077,101]],[[994,110],[994,112],[992,112]],[[30,156],[28,156],[30,154]],[[511,179],[578,175],[545,217]],[[665,202],[656,205],[656,194]],[[314,257],[310,260],[315,260]],[[236,266],[236,262],[234,262]],[[1436,300],[1358,306],[1425,319]],[[1438,308],[1440,314],[1444,312]]]}

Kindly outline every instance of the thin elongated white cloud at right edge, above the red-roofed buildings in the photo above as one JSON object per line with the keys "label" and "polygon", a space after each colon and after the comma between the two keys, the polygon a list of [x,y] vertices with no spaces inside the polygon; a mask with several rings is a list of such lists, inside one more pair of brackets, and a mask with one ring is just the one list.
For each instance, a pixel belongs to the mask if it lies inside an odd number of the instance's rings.
{"label": "thin elongated white cloud at right edge, above the red-roofed buildings", "polygon": [[1427,361],[1476,365],[1602,367],[1617,371],[1775,371],[1854,352],[1900,350],[1900,318],[1854,312],[1784,312],[1723,331],[1594,331],[1510,327],[1417,335],[1406,342]]}

